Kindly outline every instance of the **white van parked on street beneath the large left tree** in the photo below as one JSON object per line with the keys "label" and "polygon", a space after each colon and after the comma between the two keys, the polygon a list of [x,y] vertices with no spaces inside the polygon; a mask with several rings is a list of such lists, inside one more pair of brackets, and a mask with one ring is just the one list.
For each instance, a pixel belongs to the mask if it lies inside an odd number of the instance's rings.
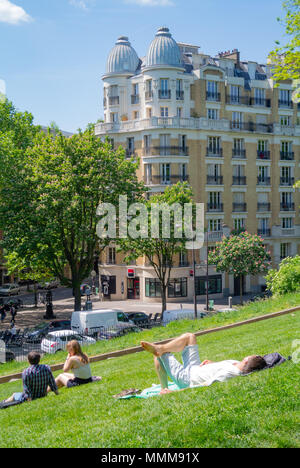
{"label": "white van parked on street beneath the large left tree", "polygon": [[83,335],[93,335],[101,329],[113,328],[124,322],[130,323],[119,309],[82,310],[72,313],[71,329]]}

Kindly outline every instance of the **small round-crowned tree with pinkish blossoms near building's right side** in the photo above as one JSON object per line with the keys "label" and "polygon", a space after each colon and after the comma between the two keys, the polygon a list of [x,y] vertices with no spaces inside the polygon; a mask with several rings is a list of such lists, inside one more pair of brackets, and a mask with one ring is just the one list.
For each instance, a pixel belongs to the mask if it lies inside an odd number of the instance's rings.
{"label": "small round-crowned tree with pinkish blossoms near building's right side", "polygon": [[217,271],[240,278],[240,298],[243,304],[243,276],[265,274],[270,267],[271,256],[263,239],[248,232],[224,237],[209,253],[208,261]]}

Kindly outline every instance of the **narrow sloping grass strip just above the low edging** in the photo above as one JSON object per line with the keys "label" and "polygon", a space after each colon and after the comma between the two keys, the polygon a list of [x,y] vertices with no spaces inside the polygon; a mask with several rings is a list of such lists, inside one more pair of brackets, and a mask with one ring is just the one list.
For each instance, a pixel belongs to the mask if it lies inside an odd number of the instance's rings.
{"label": "narrow sloping grass strip just above the low edging", "polygon": [[[130,348],[138,346],[140,340],[160,341],[167,338],[173,338],[180,335],[184,331],[196,332],[208,328],[228,325],[230,323],[247,320],[259,315],[265,315],[272,312],[296,307],[300,305],[300,293],[287,294],[278,298],[262,300],[249,303],[243,307],[238,307],[235,312],[219,313],[212,317],[200,319],[196,321],[187,320],[185,322],[170,323],[167,327],[158,327],[143,334],[129,334],[123,338],[110,341],[100,341],[96,345],[89,346],[86,350],[90,356],[107,353],[119,349]],[[46,356],[42,362],[46,364],[57,364],[64,362],[65,354],[57,353],[56,355]],[[22,372],[26,367],[24,363],[12,362],[0,366],[0,375],[12,374],[15,372]]]}

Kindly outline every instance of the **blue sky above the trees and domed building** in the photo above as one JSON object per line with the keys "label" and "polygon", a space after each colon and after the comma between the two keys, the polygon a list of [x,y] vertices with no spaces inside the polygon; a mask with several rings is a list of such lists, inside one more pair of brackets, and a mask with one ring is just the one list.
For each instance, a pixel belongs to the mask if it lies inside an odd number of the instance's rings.
{"label": "blue sky above the trees and domed building", "polygon": [[76,131],[103,116],[101,76],[120,35],[142,57],[168,26],[202,52],[238,48],[263,63],[283,39],[279,16],[282,0],[0,0],[0,79],[36,123]]}

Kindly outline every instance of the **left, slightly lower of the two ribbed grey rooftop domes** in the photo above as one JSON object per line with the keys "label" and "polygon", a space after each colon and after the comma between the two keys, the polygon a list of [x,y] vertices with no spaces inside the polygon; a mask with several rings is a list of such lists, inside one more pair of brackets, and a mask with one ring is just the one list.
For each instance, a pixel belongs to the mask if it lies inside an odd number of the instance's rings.
{"label": "left, slightly lower of the two ribbed grey rooftop domes", "polygon": [[135,73],[138,65],[139,58],[128,37],[119,37],[108,56],[106,73]]}

